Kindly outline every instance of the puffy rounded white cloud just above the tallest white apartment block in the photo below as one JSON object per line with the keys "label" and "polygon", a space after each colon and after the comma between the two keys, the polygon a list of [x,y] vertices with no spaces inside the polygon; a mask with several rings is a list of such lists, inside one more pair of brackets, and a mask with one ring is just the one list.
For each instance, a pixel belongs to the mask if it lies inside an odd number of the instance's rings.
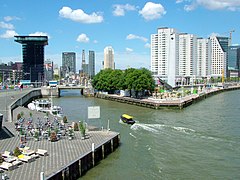
{"label": "puffy rounded white cloud just above the tallest white apartment block", "polygon": [[143,9],[139,11],[139,14],[141,14],[147,21],[150,21],[161,18],[164,14],[166,14],[166,11],[161,4],[147,2]]}

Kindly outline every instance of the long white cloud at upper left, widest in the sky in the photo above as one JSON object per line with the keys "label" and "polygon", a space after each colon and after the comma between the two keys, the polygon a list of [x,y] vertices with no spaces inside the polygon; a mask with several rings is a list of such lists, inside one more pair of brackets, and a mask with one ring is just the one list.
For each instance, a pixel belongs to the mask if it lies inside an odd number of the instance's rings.
{"label": "long white cloud at upper left, widest in the sky", "polygon": [[103,16],[100,13],[86,14],[82,9],[72,10],[70,7],[63,7],[59,11],[59,16],[86,24],[103,22]]}

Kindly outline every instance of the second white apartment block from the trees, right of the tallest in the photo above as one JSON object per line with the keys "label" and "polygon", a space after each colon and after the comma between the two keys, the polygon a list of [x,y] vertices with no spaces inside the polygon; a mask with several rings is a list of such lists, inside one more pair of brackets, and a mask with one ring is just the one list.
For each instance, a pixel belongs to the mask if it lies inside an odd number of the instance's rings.
{"label": "second white apartment block from the trees, right of the tallest", "polygon": [[197,36],[179,34],[178,75],[180,77],[196,76],[197,71]]}

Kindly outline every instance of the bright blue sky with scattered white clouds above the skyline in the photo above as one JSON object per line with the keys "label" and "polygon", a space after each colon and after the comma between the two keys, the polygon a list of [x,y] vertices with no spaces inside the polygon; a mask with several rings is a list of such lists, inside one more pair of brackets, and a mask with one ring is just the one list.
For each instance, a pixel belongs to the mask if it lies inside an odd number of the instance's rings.
{"label": "bright blue sky with scattered white clouds above the skyline", "polygon": [[[116,69],[150,68],[150,36],[160,27],[240,44],[240,0],[1,0],[0,63],[22,61],[14,35],[47,35],[45,59],[61,66],[62,52],[95,51],[96,71],[106,46]],[[87,57],[86,57],[87,59]]]}

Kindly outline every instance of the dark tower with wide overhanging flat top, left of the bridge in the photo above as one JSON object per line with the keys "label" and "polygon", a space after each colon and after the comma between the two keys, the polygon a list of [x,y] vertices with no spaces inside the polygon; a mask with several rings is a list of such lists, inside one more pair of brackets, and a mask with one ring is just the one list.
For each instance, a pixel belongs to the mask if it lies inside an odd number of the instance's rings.
{"label": "dark tower with wide overhanging flat top, left of the bridge", "polygon": [[44,46],[48,45],[47,36],[15,36],[22,44],[23,79],[31,82],[44,80]]}

